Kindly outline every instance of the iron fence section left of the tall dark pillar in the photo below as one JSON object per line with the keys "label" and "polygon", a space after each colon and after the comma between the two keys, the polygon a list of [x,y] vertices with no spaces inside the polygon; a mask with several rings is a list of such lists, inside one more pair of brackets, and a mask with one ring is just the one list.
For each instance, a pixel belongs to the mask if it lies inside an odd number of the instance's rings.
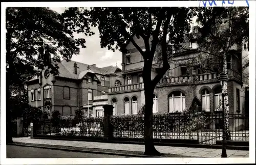
{"label": "iron fence section left of the tall dark pillar", "polygon": [[37,135],[61,135],[61,136],[103,136],[103,119],[76,120],[43,120],[35,122],[35,134]]}

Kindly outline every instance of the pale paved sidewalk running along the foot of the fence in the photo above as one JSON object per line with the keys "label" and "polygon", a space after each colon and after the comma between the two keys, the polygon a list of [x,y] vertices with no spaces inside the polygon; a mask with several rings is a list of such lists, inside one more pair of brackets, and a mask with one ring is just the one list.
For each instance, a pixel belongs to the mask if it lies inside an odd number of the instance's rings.
{"label": "pale paved sidewalk running along the foot of the fence", "polygon": [[[100,142],[83,142],[83,141],[62,141],[62,140],[46,140],[46,139],[30,139],[30,137],[13,137],[13,142],[55,145],[55,146],[70,146],[77,148],[91,148],[104,150],[121,150],[144,152],[144,145],[135,144],[113,144]],[[221,157],[221,149],[207,148],[189,148],[189,147],[170,147],[170,146],[155,146],[156,149],[164,154],[175,154],[191,157]],[[227,157],[249,157],[249,151],[242,150],[227,150]]]}

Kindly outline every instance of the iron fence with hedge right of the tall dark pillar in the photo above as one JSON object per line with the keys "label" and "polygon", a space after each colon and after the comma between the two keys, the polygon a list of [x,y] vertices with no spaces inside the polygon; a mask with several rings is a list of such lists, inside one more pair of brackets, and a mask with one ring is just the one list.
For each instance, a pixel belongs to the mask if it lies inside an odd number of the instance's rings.
{"label": "iron fence with hedge right of the tall dark pillar", "polygon": [[[249,141],[247,115],[229,114],[231,141]],[[200,144],[215,145],[222,140],[221,113],[205,115],[156,115],[153,117],[153,139],[197,140]],[[118,138],[144,137],[144,118],[139,116],[112,117],[113,136]]]}

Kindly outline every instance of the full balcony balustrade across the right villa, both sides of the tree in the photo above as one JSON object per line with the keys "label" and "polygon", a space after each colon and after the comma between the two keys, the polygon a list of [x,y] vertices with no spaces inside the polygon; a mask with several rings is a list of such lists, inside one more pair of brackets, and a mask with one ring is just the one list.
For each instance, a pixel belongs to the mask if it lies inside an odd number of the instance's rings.
{"label": "full balcony balustrade across the right villa, both sides of the tree", "polygon": [[[204,73],[197,75],[164,77],[158,82],[157,86],[189,84],[191,82],[200,83],[218,81],[219,75],[219,73]],[[228,77],[242,80],[241,74],[233,70],[228,72]],[[128,92],[140,89],[144,89],[143,83],[112,87],[109,88],[109,93]]]}

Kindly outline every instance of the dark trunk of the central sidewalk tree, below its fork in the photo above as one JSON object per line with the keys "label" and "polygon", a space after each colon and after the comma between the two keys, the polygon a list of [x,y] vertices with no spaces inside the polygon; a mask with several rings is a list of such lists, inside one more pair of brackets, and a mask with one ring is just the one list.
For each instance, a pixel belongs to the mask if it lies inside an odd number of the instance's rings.
{"label": "dark trunk of the central sidewalk tree, below its fork", "polygon": [[[146,82],[150,84],[150,82]],[[160,155],[153,142],[153,95],[154,88],[145,87],[145,115],[144,115],[144,139],[145,152],[144,155]],[[150,86],[150,85],[149,85]]]}

